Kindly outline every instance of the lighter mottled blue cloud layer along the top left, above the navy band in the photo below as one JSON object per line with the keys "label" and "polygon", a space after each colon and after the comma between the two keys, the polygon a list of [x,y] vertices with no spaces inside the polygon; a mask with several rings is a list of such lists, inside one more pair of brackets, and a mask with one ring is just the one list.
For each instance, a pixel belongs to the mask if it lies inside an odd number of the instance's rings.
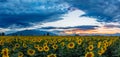
{"label": "lighter mottled blue cloud layer along the top left, above the navy band", "polygon": [[53,12],[65,12],[67,8],[69,5],[59,0],[7,0],[5,3],[0,3],[1,14],[51,14]]}

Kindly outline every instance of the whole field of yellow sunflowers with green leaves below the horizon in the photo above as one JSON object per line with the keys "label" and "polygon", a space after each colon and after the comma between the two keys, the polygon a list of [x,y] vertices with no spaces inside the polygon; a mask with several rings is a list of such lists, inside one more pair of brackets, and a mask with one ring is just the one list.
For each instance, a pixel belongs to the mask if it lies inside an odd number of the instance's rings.
{"label": "whole field of yellow sunflowers with green leaves below the horizon", "polygon": [[0,36],[0,57],[120,57],[120,37]]}

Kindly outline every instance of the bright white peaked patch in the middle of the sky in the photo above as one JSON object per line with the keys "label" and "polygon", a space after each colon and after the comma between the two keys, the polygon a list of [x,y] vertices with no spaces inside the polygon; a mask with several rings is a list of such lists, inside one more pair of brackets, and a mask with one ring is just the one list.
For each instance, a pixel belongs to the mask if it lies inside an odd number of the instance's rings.
{"label": "bright white peaked patch in the middle of the sky", "polygon": [[80,25],[101,25],[99,22],[96,21],[95,18],[90,17],[80,17],[81,15],[85,14],[84,11],[76,9],[74,11],[68,12],[63,15],[62,20],[55,21],[55,22],[48,22],[43,23],[42,27],[73,27],[73,26],[80,26]]}

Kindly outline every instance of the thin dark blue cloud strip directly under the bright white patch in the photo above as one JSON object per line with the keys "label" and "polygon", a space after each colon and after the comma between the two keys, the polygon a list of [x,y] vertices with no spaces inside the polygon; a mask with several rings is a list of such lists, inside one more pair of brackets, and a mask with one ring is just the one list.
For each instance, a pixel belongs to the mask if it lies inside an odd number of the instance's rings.
{"label": "thin dark blue cloud strip directly under the bright white patch", "polygon": [[86,25],[86,26],[74,26],[74,27],[42,27],[41,29],[81,29],[81,30],[94,30],[98,28],[99,26],[92,26],[92,25]]}

